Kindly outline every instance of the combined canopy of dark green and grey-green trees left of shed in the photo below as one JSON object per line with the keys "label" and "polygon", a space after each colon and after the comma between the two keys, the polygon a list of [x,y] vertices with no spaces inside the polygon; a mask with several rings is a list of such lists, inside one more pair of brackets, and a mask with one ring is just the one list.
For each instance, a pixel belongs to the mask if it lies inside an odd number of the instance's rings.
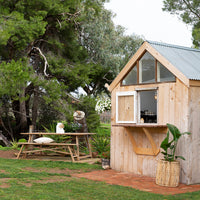
{"label": "combined canopy of dark green and grey-green trees left of shed", "polygon": [[0,120],[12,138],[47,107],[70,112],[77,88],[105,91],[141,44],[114,26],[105,1],[0,0]]}

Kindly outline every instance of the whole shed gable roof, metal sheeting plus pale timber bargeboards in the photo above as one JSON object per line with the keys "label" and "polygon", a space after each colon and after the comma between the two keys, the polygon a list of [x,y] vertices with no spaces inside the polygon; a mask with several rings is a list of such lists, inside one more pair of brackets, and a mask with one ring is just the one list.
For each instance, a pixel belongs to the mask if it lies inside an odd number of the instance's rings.
{"label": "whole shed gable roof, metal sheeting plus pale timber bargeboards", "polygon": [[200,50],[160,42],[145,41],[111,83],[109,86],[110,91],[124,78],[133,67],[133,64],[145,51],[148,51],[185,85],[189,86],[190,80],[200,80]]}

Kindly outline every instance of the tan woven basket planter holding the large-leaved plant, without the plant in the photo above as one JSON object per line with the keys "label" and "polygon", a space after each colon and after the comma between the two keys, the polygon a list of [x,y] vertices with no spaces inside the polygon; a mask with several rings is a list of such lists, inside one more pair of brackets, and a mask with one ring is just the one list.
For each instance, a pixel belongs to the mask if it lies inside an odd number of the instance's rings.
{"label": "tan woven basket planter holding the large-leaved plant, without the plant", "polygon": [[180,177],[180,162],[159,160],[156,170],[156,184],[167,187],[177,187]]}

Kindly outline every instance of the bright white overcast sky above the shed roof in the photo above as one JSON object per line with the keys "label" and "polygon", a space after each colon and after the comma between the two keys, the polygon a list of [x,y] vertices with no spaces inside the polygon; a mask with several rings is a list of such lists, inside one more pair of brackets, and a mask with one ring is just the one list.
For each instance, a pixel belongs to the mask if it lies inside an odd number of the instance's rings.
{"label": "bright white overcast sky above the shed roof", "polygon": [[116,14],[113,21],[146,40],[192,46],[191,27],[169,12],[162,11],[163,0],[110,0],[105,8]]}

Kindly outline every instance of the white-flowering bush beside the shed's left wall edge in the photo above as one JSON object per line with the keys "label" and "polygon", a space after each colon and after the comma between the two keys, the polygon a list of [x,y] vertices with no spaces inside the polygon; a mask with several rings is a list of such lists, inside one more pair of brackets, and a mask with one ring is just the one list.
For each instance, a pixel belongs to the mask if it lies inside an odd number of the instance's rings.
{"label": "white-flowering bush beside the shed's left wall edge", "polygon": [[98,96],[95,110],[100,114],[110,109],[111,109],[110,97],[108,97],[105,94]]}

